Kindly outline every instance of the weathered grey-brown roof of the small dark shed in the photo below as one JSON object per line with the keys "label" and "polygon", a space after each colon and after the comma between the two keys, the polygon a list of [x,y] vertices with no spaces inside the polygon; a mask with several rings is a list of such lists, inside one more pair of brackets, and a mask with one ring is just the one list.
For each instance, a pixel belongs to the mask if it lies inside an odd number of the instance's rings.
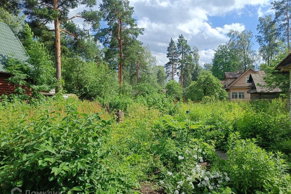
{"label": "weathered grey-brown roof of the small dark shed", "polygon": [[251,89],[247,93],[255,93],[255,92],[282,92],[281,89],[278,87],[274,89],[269,89],[268,87],[264,87],[263,85],[266,85],[266,82],[263,80],[263,77],[267,74],[251,74],[249,76],[249,81],[253,82],[256,89]]}

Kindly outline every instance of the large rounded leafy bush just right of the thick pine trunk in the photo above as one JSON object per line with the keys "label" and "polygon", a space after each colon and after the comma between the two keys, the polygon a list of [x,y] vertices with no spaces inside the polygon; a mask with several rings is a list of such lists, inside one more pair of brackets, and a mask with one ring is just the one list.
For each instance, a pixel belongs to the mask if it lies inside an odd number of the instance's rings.
{"label": "large rounded leafy bush just right of the thick pine trunk", "polygon": [[117,95],[116,74],[103,64],[84,62],[80,57],[63,58],[64,89],[82,99],[110,98]]}

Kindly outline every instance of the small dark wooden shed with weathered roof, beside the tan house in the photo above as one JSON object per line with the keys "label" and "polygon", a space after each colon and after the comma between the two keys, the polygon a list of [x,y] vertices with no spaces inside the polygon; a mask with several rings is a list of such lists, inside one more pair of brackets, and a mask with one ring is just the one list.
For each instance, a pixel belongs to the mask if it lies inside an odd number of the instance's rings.
{"label": "small dark wooden shed with weathered roof, beside the tan house", "polygon": [[274,89],[269,89],[265,87],[266,82],[263,80],[263,77],[266,74],[251,74],[249,76],[249,82],[251,83],[251,88],[247,92],[251,95],[251,100],[258,99],[276,99],[279,98],[279,94],[282,92],[278,87]]}

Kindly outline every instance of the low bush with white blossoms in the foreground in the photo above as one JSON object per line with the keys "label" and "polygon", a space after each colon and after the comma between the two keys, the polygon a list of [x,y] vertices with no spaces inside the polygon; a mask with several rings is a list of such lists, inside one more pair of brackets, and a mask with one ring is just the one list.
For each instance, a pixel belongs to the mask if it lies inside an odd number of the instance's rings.
{"label": "low bush with white blossoms in the foreground", "polygon": [[[208,192],[217,190],[230,180],[227,173],[217,169],[208,169],[203,156],[207,153],[198,147],[186,149],[185,155],[178,156],[179,171],[166,174],[166,178],[161,181],[167,193],[186,194],[197,192]],[[204,163],[202,163],[204,162]]]}

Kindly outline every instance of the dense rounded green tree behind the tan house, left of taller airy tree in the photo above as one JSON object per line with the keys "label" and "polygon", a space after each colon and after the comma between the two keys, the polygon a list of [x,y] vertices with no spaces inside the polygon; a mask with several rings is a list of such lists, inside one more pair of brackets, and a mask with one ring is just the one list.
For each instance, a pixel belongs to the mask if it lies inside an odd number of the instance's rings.
{"label": "dense rounded green tree behind the tan house, left of taller airy tree", "polygon": [[219,80],[223,80],[224,72],[237,71],[238,68],[239,61],[236,53],[229,49],[227,45],[219,45],[212,59],[212,74]]}

